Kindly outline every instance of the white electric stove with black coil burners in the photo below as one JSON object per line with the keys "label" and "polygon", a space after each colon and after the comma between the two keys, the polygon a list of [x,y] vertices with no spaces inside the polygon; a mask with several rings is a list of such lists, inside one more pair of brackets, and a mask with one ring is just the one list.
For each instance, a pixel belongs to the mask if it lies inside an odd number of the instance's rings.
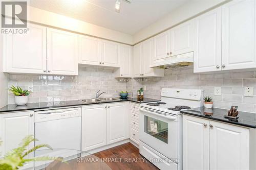
{"label": "white electric stove with black coil burners", "polygon": [[163,88],[161,102],[140,104],[140,154],[160,169],[182,169],[181,110],[202,106],[202,90]]}

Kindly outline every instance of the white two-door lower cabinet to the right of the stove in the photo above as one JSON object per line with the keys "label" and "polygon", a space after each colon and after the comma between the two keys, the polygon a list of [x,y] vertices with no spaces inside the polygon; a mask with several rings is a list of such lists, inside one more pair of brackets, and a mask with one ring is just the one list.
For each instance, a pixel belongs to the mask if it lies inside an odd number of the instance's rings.
{"label": "white two-door lower cabinet to the right of the stove", "polygon": [[249,128],[183,115],[183,169],[249,169]]}

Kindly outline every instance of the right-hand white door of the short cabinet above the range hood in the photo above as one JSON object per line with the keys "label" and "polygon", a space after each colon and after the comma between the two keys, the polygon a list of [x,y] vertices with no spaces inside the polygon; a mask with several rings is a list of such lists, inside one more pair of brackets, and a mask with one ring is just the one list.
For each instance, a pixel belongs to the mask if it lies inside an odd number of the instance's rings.
{"label": "right-hand white door of the short cabinet above the range hood", "polygon": [[193,52],[194,50],[194,19],[170,29],[171,56]]}

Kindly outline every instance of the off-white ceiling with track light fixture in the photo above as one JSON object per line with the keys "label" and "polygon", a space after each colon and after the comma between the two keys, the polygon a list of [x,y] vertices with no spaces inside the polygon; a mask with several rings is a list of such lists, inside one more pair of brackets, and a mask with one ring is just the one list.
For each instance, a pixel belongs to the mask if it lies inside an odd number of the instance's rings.
{"label": "off-white ceiling with track light fixture", "polygon": [[187,1],[131,0],[128,4],[120,0],[119,13],[116,0],[30,0],[29,5],[134,35]]}

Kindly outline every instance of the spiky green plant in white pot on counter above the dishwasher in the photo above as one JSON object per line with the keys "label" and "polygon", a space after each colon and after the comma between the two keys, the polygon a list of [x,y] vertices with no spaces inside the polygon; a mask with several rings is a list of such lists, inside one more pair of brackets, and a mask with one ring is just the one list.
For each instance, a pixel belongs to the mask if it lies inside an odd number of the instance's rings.
{"label": "spiky green plant in white pot on counter above the dishwasher", "polygon": [[8,90],[15,95],[16,105],[26,105],[28,103],[28,95],[31,94],[31,91],[23,90],[19,86],[11,86],[11,88],[9,88]]}

